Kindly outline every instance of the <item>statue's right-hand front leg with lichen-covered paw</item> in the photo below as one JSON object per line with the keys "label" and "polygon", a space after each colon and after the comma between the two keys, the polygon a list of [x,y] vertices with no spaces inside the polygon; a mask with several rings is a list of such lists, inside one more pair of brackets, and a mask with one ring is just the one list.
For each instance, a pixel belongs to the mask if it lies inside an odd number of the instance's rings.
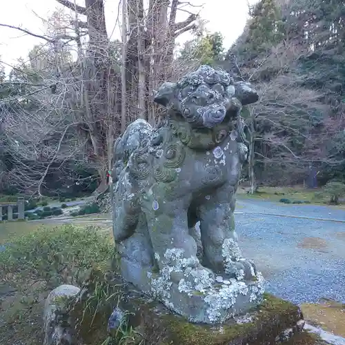
{"label": "statue's right-hand front leg with lichen-covered paw", "polygon": [[203,264],[219,275],[253,279],[255,266],[242,257],[235,233],[235,193],[222,186],[199,207]]}

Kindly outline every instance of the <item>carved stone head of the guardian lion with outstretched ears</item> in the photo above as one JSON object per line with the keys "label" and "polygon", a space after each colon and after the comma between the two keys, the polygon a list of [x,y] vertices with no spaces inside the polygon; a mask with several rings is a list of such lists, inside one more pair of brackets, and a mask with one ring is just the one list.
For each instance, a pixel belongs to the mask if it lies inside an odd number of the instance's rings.
{"label": "carved stone head of the guardian lion with outstretched ears", "polygon": [[236,118],[242,106],[258,98],[250,83],[235,82],[224,70],[201,66],[177,83],[163,83],[154,100],[193,128],[213,128]]}

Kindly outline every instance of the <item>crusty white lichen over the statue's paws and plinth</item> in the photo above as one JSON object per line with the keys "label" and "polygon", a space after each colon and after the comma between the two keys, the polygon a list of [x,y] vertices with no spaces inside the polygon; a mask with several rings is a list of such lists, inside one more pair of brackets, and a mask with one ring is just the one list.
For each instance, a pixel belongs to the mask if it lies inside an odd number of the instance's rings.
{"label": "crusty white lichen over the statue's paws and plinth", "polygon": [[[242,259],[234,239],[224,241],[222,252],[225,261],[231,260],[231,258],[237,261]],[[171,304],[170,289],[174,284],[171,274],[172,272],[181,273],[182,278],[178,283],[176,282],[179,293],[186,293],[188,298],[197,295],[199,299],[204,300],[207,306],[206,315],[210,323],[224,322],[228,319],[231,308],[235,305],[239,295],[250,294],[250,302],[253,302],[264,292],[264,279],[261,273],[257,275],[257,282],[248,285],[235,278],[224,279],[221,276],[214,278],[209,270],[199,265],[197,257],[184,257],[184,250],[181,248],[168,248],[164,253],[164,259],[166,262],[164,268],[160,270],[160,276],[151,280],[154,295],[169,307]],[[239,270],[239,274],[243,276],[243,270]],[[221,284],[220,287],[219,284]]]}

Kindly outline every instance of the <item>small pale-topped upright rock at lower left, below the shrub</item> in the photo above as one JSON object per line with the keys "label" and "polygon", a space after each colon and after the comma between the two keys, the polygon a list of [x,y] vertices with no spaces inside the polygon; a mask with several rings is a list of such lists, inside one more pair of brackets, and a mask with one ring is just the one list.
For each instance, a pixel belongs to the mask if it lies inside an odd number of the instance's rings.
{"label": "small pale-topped upright rock at lower left, below the shrub", "polygon": [[66,308],[80,289],[72,285],[61,285],[52,290],[44,305],[43,345],[76,345],[75,329]]}

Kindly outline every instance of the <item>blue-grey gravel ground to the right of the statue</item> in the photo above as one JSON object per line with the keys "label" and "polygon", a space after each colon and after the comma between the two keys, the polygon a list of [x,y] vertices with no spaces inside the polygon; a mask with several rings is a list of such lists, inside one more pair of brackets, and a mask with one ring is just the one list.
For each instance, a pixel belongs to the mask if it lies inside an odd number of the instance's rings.
{"label": "blue-grey gravel ground to the right of the statue", "polygon": [[262,270],[268,292],[297,304],[322,297],[345,303],[345,210],[243,199],[237,205],[240,246]]}

